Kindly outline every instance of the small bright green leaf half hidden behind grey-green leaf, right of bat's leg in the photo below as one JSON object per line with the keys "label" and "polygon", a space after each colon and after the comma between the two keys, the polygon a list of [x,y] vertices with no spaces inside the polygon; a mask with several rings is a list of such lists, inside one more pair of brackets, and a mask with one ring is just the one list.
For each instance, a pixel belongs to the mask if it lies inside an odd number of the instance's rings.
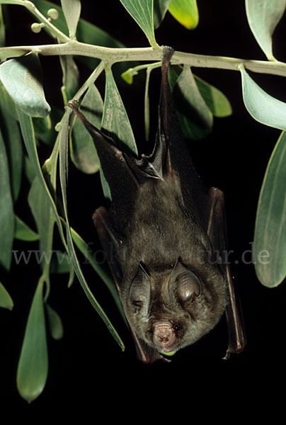
{"label": "small bright green leaf half hidden behind grey-green leaf, right of bat's leg", "polygon": [[194,75],[195,82],[198,86],[200,94],[204,98],[207,107],[210,108],[210,111],[215,117],[227,117],[231,115],[231,104],[222,91],[216,89],[212,84],[207,83],[207,81],[202,80],[200,77]]}

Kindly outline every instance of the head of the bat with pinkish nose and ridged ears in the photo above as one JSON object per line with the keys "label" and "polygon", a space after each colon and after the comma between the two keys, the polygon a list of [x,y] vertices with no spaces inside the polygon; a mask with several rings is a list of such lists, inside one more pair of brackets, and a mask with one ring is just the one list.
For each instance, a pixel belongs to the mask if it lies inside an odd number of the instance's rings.
{"label": "head of the bat with pinkish nose and ridged ears", "polygon": [[130,325],[144,344],[171,355],[193,344],[219,321],[226,304],[217,271],[205,281],[178,259],[165,271],[150,272],[140,262],[125,297]]}

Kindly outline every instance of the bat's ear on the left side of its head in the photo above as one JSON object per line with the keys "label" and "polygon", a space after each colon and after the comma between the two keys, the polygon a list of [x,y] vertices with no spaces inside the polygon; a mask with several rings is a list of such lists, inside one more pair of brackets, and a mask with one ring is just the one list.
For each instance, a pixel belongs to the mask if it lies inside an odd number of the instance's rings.
{"label": "bat's ear on the left side of its head", "polygon": [[138,271],[132,280],[129,291],[130,303],[138,307],[140,312],[147,316],[151,295],[151,282],[147,271],[145,271],[142,263],[139,263]]}

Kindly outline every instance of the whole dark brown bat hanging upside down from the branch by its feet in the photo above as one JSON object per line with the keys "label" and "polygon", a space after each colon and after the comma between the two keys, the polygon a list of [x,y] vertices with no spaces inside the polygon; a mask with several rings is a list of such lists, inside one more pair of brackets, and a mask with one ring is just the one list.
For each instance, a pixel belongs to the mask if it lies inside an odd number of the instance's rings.
{"label": "whole dark brown bat hanging upside down from the branch by its feet", "polygon": [[227,315],[230,353],[245,340],[227,250],[224,194],[206,191],[185,146],[171,90],[171,47],[163,47],[154,150],[135,159],[69,106],[93,137],[112,201],[93,215],[144,363],[169,361]]}

